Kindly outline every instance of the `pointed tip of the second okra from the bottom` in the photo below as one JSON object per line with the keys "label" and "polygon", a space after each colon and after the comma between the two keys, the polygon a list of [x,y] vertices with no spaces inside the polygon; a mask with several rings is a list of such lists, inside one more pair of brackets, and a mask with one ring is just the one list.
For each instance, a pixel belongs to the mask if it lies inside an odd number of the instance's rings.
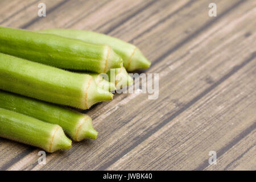
{"label": "pointed tip of the second okra from the bottom", "polygon": [[80,142],[85,138],[96,139],[97,136],[98,132],[93,128],[92,118],[89,116],[82,118],[79,125],[77,125],[76,138],[74,140]]}

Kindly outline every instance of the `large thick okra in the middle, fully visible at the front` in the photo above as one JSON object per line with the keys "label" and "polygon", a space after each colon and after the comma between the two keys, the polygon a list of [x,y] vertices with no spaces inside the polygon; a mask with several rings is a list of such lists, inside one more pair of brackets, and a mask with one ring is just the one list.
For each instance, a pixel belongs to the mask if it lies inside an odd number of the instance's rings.
{"label": "large thick okra in the middle, fully visible at the front", "polygon": [[88,109],[113,94],[93,77],[0,53],[0,89],[55,104]]}

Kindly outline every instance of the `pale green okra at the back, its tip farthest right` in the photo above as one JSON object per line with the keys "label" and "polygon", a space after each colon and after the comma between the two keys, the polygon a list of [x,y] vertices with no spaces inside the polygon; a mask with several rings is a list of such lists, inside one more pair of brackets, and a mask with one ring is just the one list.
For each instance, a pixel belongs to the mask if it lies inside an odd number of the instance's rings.
{"label": "pale green okra at the back, its tip farthest right", "polygon": [[150,61],[143,56],[142,52],[133,44],[113,38],[108,35],[84,30],[48,29],[40,32],[64,36],[67,38],[79,39],[84,42],[98,45],[109,45],[123,59],[123,66],[127,71],[135,69],[146,69],[150,67]]}

